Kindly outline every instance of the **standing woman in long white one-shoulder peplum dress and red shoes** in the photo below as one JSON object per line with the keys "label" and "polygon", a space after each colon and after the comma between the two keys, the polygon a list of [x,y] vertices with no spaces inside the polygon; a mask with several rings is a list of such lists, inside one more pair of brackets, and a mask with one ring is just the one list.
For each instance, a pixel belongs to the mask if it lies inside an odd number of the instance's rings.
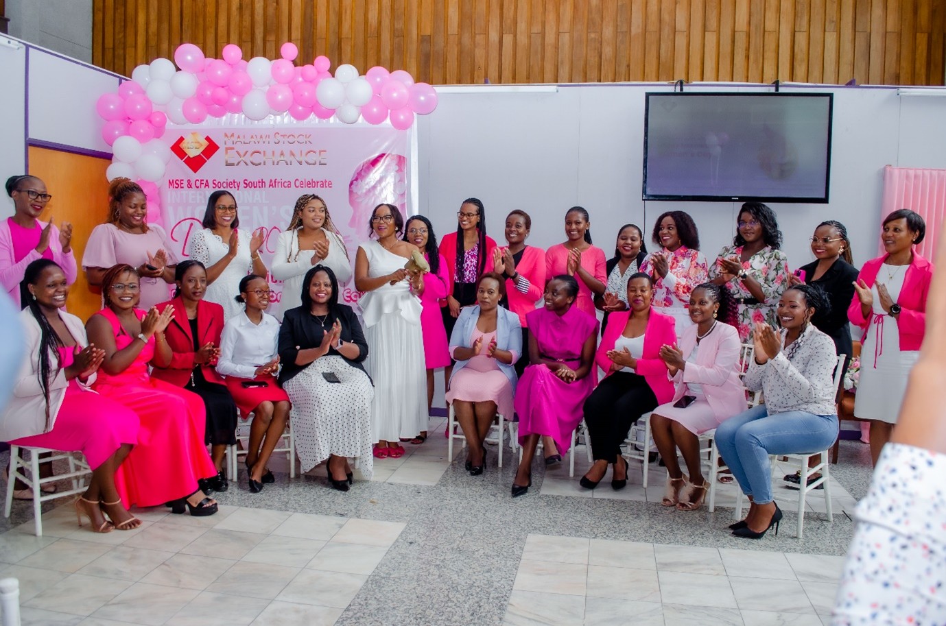
{"label": "standing woman in long white one-shoulder peplum dress and red shoes", "polygon": [[[404,265],[417,246],[401,241],[404,217],[392,204],[378,204],[371,217],[377,237],[359,246],[355,287],[371,354],[365,361],[375,382],[372,430],[378,459],[404,455],[399,439],[427,430],[427,370],[421,332],[424,275]],[[419,251],[418,251],[419,252]]]}

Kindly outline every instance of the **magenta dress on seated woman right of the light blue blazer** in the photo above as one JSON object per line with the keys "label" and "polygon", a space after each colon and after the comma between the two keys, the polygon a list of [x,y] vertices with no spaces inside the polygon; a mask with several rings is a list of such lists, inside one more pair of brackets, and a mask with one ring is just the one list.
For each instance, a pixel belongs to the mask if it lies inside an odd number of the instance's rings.
{"label": "magenta dress on seated woman right of the light blue blazer", "polygon": [[[572,369],[578,367],[587,338],[598,335],[597,318],[577,306],[571,306],[561,317],[547,308],[537,308],[526,318],[539,354]],[[529,435],[550,436],[559,454],[564,455],[571,445],[571,431],[582,421],[583,406],[594,390],[595,378],[593,364],[587,376],[573,383],[563,381],[545,364],[527,367],[516,391],[519,443]]]}

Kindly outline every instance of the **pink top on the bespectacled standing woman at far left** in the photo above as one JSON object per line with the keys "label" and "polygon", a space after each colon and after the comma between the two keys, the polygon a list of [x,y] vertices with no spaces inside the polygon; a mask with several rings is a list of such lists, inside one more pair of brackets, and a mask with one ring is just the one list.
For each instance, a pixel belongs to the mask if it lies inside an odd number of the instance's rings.
{"label": "pink top on the bespectacled standing woman at far left", "polygon": [[40,234],[47,223],[37,219],[36,228],[24,228],[16,224],[12,217],[0,220],[0,284],[17,308],[20,307],[20,281],[26,273],[26,266],[37,259],[52,259],[62,268],[70,285],[76,282],[76,257],[71,250],[62,252],[56,224],[49,229],[49,247],[46,252],[36,252]]}

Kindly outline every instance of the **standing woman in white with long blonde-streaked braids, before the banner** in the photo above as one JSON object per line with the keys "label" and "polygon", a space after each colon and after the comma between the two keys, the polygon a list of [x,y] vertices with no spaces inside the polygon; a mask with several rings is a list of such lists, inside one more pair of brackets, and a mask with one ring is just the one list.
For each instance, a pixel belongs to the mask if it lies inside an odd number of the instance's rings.
{"label": "standing woman in white with long blonde-streaked braids, before the banner", "polygon": [[272,276],[283,281],[281,306],[276,314],[280,321],[283,311],[302,304],[303,277],[320,264],[335,272],[340,288],[351,280],[348,250],[332,223],[328,205],[315,194],[304,194],[296,200],[289,228],[279,234],[272,257]]}

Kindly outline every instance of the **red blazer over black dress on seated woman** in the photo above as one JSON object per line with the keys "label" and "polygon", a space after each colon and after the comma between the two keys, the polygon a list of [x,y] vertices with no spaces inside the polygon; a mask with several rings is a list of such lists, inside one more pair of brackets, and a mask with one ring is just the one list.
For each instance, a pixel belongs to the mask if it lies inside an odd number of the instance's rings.
{"label": "red blazer over black dress on seated woman", "polygon": [[[170,302],[158,304],[158,310],[164,311],[168,304],[174,306],[174,318],[167,324],[165,339],[174,355],[171,356],[170,365],[166,368],[154,368],[151,375],[171,385],[184,387],[194,369],[194,338],[190,334],[190,322],[184,311],[184,300],[179,297]],[[199,345],[209,342],[219,347],[220,333],[223,332],[223,307],[201,300],[197,304],[197,329]],[[223,378],[214,369],[213,363],[202,364],[201,372],[208,382],[225,384]]]}

